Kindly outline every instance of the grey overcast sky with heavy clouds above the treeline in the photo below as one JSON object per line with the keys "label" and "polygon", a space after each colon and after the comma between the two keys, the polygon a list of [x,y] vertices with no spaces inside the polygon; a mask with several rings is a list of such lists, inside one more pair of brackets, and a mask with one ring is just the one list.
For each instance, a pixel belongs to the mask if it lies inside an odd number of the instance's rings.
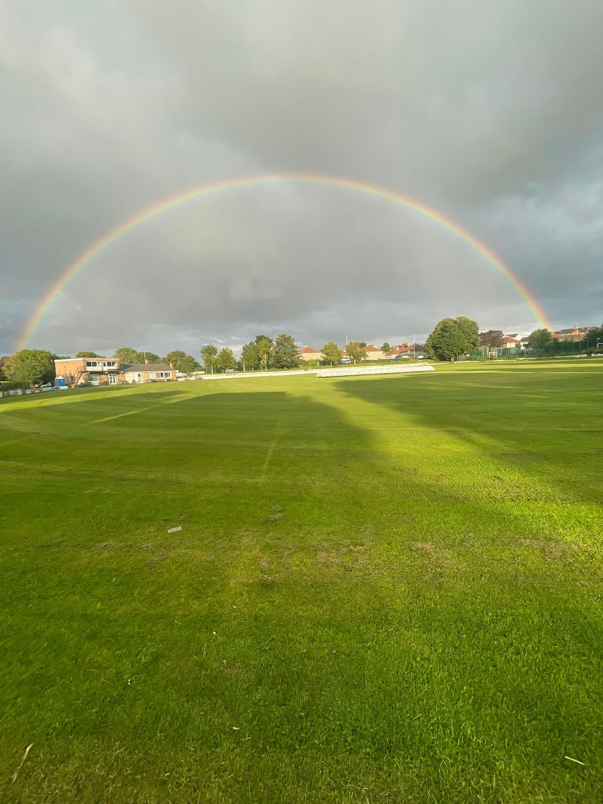
{"label": "grey overcast sky with heavy clouds above the treeline", "polygon": [[[0,0],[0,353],[66,266],[142,208],[307,171],[436,207],[556,326],[603,320],[601,0]],[[275,183],[187,203],[92,261],[31,347],[198,356],[534,316],[428,219]]]}

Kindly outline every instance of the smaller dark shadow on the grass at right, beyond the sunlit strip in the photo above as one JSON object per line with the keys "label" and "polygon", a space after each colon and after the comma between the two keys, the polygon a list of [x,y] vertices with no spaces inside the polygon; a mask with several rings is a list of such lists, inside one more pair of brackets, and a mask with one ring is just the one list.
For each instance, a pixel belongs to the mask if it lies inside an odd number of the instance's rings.
{"label": "smaller dark shadow on the grass at right, beyond the sunlit strip", "polygon": [[[511,498],[513,477],[520,473],[543,490],[548,486],[560,501],[594,503],[601,499],[601,479],[585,467],[594,466],[601,453],[599,384],[598,375],[526,368],[516,374],[465,370],[343,380],[337,389],[470,445],[476,457],[492,461],[493,492],[508,491]],[[515,474],[501,476],[497,463]]]}

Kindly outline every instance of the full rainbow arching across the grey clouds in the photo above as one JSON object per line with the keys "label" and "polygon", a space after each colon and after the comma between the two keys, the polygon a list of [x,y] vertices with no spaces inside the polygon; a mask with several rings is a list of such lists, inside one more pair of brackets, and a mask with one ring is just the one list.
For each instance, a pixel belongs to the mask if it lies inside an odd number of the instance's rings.
{"label": "full rainbow arching across the grey clouds", "polygon": [[55,303],[57,297],[59,297],[59,294],[78,273],[89,265],[95,257],[104,252],[105,249],[109,248],[109,246],[113,245],[113,243],[121,237],[127,235],[128,232],[137,228],[137,226],[144,224],[147,220],[154,218],[156,215],[161,215],[162,212],[174,209],[174,207],[180,207],[189,201],[203,198],[206,195],[224,193],[230,190],[243,190],[247,187],[276,182],[316,184],[322,185],[323,187],[339,187],[343,190],[364,193],[364,195],[371,195],[374,198],[383,199],[384,201],[391,201],[392,203],[398,204],[400,207],[405,207],[406,209],[417,212],[419,215],[423,215],[429,220],[433,220],[435,224],[439,224],[459,240],[466,243],[474,252],[482,256],[482,258],[486,260],[486,263],[491,265],[498,273],[501,273],[509,285],[515,289],[519,297],[523,299],[527,309],[530,310],[535,321],[539,323],[539,326],[546,326],[550,329],[547,316],[544,314],[542,307],[539,306],[538,301],[532,296],[527,287],[523,285],[523,282],[505,265],[503,260],[496,256],[485,244],[481,243],[477,237],[474,237],[470,232],[467,232],[466,229],[455,224],[453,220],[446,218],[441,212],[426,206],[424,203],[420,203],[420,201],[408,198],[406,195],[387,190],[384,187],[376,187],[371,184],[356,182],[348,178],[323,176],[321,174],[277,173],[246,176],[244,178],[231,178],[227,181],[204,184],[201,187],[193,187],[191,190],[180,192],[176,195],[170,195],[169,198],[154,203],[150,207],[146,207],[146,209],[137,212],[136,215],[133,215],[124,223],[118,224],[115,228],[106,232],[99,240],[96,240],[96,243],[93,243],[86,251],[80,254],[71,265],[68,265],[67,269],[60,274],[59,278],[51,285],[50,289],[48,289],[43,299],[39,302],[39,305],[36,306],[31,318],[27,321],[23,333],[18,339],[17,351],[27,347],[27,344],[30,343],[35,331],[38,329],[48,310],[50,310],[51,306]]}

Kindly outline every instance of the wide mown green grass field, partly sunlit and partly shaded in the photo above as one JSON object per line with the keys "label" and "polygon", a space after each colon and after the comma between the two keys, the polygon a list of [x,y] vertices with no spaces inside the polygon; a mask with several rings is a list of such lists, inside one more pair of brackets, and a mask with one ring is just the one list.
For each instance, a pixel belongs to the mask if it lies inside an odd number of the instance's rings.
{"label": "wide mown green grass field, partly sunlit and partly shaded", "polygon": [[2,400],[0,801],[601,802],[601,392]]}

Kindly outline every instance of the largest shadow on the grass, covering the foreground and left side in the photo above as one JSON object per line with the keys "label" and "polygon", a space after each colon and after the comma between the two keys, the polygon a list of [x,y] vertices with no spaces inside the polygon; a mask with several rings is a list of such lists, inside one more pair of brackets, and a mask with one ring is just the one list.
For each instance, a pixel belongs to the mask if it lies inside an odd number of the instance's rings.
{"label": "largest shadow on the grass, covering the foreground and left side", "polygon": [[[337,388],[444,428],[434,386],[410,382]],[[82,403],[77,438],[15,447],[6,800],[594,801],[559,770],[600,757],[588,605],[434,546],[451,503],[482,512],[398,482],[345,406],[233,390],[128,395],[105,411],[136,415],[93,426]]]}

